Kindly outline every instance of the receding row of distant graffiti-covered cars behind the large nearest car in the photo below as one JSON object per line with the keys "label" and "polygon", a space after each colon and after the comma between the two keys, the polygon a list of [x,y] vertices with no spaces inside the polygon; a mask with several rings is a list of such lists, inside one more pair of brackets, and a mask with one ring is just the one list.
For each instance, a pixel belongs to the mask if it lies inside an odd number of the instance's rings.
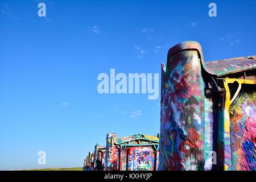
{"label": "receding row of distant graffiti-covered cars behind the large nearest car", "polygon": [[158,167],[159,135],[135,134],[117,138],[108,133],[106,146],[96,144],[84,160],[85,171],[155,171]]}

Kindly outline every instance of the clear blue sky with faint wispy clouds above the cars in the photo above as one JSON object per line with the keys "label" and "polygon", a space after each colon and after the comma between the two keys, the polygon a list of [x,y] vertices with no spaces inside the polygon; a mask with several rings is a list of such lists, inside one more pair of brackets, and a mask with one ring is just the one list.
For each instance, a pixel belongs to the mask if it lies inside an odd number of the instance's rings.
{"label": "clear blue sky with faint wispy clouds above the cars", "polygon": [[108,132],[159,133],[159,98],[99,94],[97,76],[160,73],[186,40],[208,61],[255,55],[256,2],[213,1],[209,17],[210,2],[1,1],[0,169],[79,167]]}

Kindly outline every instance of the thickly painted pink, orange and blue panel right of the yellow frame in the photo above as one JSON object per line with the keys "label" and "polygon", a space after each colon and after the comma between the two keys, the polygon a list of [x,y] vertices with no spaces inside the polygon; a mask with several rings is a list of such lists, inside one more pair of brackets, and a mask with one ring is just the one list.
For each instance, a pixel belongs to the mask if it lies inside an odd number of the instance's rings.
{"label": "thickly painted pink, orange and blue panel right of the yellow frame", "polygon": [[232,169],[256,171],[256,93],[241,93],[231,122]]}

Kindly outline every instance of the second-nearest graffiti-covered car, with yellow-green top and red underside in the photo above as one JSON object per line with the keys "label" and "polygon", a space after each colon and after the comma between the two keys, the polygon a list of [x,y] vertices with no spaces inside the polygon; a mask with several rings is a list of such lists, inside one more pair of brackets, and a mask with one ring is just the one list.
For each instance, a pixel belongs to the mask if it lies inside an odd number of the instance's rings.
{"label": "second-nearest graffiti-covered car, with yellow-green top and red underside", "polygon": [[137,134],[117,138],[116,134],[109,133],[106,140],[106,171],[156,170],[158,165],[158,137]]}

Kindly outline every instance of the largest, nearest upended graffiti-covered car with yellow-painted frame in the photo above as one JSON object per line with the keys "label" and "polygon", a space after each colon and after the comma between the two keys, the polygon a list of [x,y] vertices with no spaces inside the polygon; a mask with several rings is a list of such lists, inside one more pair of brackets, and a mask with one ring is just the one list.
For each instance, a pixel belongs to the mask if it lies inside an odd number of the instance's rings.
{"label": "largest, nearest upended graffiti-covered car with yellow-painted frame", "polygon": [[256,56],[204,61],[197,42],[162,64],[159,170],[256,170]]}

